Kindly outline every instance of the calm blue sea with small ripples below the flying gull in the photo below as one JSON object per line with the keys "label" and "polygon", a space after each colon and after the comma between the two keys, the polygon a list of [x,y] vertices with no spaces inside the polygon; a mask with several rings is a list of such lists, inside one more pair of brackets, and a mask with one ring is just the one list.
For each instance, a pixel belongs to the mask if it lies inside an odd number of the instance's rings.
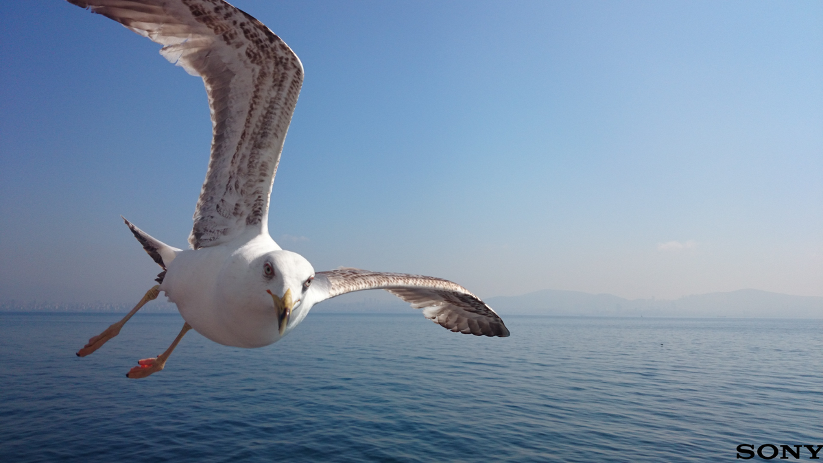
{"label": "calm blue sea with small ripples below the flying gull", "polygon": [[[2,461],[734,461],[823,444],[823,320],[311,314],[267,348],[179,316],[0,314]],[[807,458],[806,454],[804,458]]]}

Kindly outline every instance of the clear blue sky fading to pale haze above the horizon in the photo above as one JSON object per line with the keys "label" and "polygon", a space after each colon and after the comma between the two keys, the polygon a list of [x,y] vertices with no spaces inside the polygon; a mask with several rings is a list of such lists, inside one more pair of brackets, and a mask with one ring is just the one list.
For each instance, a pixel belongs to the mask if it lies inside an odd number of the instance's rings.
{"label": "clear blue sky fading to pale haze above the horizon", "polygon": [[[269,229],[316,270],[672,299],[823,296],[823,2],[237,7],[305,82]],[[2,2],[0,301],[135,302],[212,126],[159,45]]]}

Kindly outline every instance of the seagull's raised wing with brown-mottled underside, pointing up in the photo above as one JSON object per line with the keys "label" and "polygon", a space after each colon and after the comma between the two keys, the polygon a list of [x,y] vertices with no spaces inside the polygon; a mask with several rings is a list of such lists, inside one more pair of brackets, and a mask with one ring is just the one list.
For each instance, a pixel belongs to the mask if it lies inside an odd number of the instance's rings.
{"label": "seagull's raised wing with brown-mottled underside, pointing up", "polygon": [[303,65],[263,23],[222,0],[68,0],[162,44],[202,77],[212,110],[212,157],[188,237],[215,246],[254,227],[265,232],[277,163]]}

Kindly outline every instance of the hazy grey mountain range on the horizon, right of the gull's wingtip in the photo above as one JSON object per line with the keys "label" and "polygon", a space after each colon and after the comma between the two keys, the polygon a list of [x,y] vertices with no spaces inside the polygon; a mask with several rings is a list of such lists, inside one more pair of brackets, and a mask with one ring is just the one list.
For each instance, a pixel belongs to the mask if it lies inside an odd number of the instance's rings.
{"label": "hazy grey mountain range on the horizon, right of the gull's wingtip", "polygon": [[823,318],[823,297],[757,289],[710,292],[674,301],[629,300],[611,294],[546,289],[523,296],[489,297],[486,302],[500,315]]}

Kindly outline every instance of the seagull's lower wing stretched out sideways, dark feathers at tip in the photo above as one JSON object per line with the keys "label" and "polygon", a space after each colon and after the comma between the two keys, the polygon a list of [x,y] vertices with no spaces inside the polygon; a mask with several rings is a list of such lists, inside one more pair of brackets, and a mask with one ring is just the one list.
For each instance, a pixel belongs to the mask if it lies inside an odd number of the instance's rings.
{"label": "seagull's lower wing stretched out sideways, dark feathers at tip", "polygon": [[448,330],[477,336],[509,335],[509,329],[490,306],[458,283],[443,278],[337,269],[314,274],[311,288],[319,293],[318,302],[346,292],[385,289],[411,302],[412,307],[423,309],[425,318]]}

